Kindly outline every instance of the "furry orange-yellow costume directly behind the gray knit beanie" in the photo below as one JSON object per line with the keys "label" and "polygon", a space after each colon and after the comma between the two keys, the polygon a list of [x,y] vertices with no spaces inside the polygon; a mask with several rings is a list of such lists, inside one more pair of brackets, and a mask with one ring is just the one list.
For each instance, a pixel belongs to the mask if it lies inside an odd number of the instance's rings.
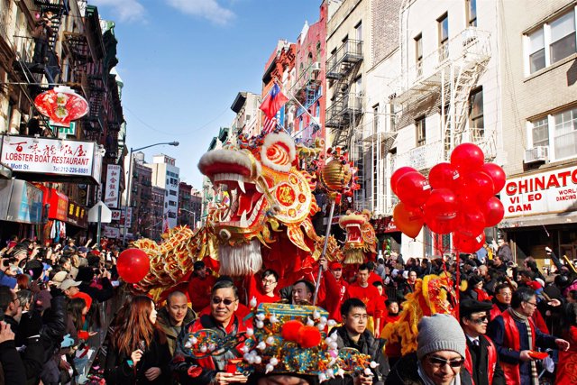
{"label": "furry orange-yellow costume directly behind the gray knit beanie", "polygon": [[415,291],[409,293],[402,304],[398,320],[382,330],[380,337],[387,340],[387,352],[396,352],[398,356],[416,352],[420,319],[436,313],[456,316],[456,301],[450,274],[429,274],[418,279]]}

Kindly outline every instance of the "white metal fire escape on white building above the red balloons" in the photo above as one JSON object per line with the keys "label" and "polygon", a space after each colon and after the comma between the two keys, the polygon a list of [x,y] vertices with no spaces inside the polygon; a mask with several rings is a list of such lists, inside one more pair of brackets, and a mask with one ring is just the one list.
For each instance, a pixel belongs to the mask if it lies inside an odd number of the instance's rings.
{"label": "white metal fire escape on white building above the red balloons", "polygon": [[488,160],[496,156],[495,128],[472,127],[468,124],[470,96],[490,60],[490,32],[469,27],[453,39],[404,69],[389,86],[389,96],[400,115],[411,112],[416,105],[438,98],[443,125],[442,138],[427,142],[411,151],[398,154],[391,169],[411,166],[426,170],[448,160],[454,146],[474,142],[485,152]]}

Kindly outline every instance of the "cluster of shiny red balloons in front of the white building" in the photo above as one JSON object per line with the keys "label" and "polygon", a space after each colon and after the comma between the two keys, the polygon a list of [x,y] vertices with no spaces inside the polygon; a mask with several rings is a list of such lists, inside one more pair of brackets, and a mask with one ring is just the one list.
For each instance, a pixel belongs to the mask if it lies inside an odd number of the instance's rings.
{"label": "cluster of shiny red balloons in front of the white building", "polygon": [[435,165],[428,180],[411,167],[396,170],[390,187],[400,202],[393,210],[395,225],[415,238],[423,225],[437,234],[453,233],[461,252],[476,252],[485,242],[485,227],[499,224],[505,210],[498,197],[505,187],[505,171],[485,163],[472,143],[454,148],[451,162]]}

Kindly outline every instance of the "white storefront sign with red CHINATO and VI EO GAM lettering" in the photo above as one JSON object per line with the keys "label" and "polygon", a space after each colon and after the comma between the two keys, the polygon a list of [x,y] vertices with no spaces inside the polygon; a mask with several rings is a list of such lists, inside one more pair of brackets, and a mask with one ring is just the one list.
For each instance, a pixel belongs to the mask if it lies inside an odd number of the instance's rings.
{"label": "white storefront sign with red CHINATO and VI EO GAM lettering", "polygon": [[505,217],[577,211],[577,166],[508,179]]}

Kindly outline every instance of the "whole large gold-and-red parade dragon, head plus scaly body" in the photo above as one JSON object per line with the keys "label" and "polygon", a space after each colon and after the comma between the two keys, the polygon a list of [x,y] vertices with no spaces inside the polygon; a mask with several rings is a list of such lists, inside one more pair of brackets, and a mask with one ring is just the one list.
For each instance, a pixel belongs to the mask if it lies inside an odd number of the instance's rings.
{"label": "whole large gold-and-red parade dragon, head plus scaly body", "polygon": [[[198,260],[232,277],[254,274],[264,264],[279,272],[279,287],[312,272],[325,237],[316,234],[311,221],[319,211],[311,193],[316,176],[300,170],[298,159],[287,133],[243,136],[238,145],[206,152],[198,169],[229,199],[213,206],[196,232],[176,227],[163,235],[163,243],[134,242],[151,258],[140,288],[168,288],[187,280]],[[325,177],[332,183],[334,174]],[[334,237],[326,240],[326,248],[330,261],[342,260]]]}

